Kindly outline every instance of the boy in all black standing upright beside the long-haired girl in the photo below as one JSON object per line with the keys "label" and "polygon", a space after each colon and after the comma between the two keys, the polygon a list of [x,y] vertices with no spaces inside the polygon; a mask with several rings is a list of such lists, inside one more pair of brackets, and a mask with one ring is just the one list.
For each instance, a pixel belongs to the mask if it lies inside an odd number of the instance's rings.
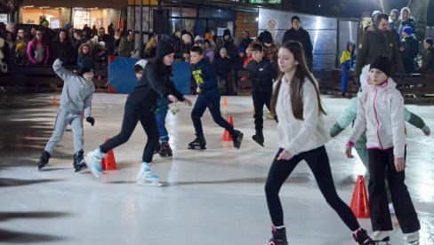
{"label": "boy in all black standing upright beside the long-haired girl", "polygon": [[254,130],[253,140],[264,146],[263,128],[263,107],[269,109],[269,101],[273,92],[273,79],[277,77],[277,70],[271,65],[269,59],[263,58],[263,48],[259,43],[252,47],[253,60],[247,63],[250,77],[252,79],[252,98],[254,107]]}

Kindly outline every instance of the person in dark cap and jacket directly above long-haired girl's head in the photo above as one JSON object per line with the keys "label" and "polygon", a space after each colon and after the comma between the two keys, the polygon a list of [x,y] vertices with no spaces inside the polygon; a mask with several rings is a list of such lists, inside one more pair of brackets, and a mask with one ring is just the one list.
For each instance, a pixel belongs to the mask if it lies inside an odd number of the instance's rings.
{"label": "person in dark cap and jacket directly above long-haired girl's head", "polygon": [[309,32],[301,27],[301,20],[298,16],[294,15],[291,18],[291,26],[289,30],[285,31],[282,44],[288,41],[297,41],[303,45],[304,57],[308,64],[309,70],[313,67],[313,46],[310,42]]}

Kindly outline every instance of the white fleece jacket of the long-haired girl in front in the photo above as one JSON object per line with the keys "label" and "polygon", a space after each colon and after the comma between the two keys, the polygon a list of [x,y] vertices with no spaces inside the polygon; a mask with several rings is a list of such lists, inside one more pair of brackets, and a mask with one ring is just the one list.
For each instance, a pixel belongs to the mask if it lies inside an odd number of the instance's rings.
{"label": "white fleece jacket of the long-haired girl in front", "polygon": [[[315,83],[317,86],[316,81]],[[304,120],[293,116],[289,85],[285,77],[282,77],[276,105],[277,140],[278,145],[292,155],[324,146],[330,139],[324,126],[324,115],[319,112],[317,91],[309,78],[305,79],[301,87],[301,99]]]}

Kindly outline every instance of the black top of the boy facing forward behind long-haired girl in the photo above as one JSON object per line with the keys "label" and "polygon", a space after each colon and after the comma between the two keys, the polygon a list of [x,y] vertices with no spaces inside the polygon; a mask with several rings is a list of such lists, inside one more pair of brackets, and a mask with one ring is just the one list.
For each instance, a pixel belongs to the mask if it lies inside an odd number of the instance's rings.
{"label": "black top of the boy facing forward behind long-haired girl", "polygon": [[269,59],[263,58],[261,62],[250,60],[247,69],[252,79],[253,93],[273,91],[273,79],[277,77],[277,70],[271,65]]}

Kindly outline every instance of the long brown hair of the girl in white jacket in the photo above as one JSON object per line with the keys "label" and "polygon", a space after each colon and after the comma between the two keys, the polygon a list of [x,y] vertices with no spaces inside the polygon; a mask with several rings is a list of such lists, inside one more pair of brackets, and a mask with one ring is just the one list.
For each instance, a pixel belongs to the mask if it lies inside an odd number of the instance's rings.
{"label": "long brown hair of the girl in white jacket", "polygon": [[[306,65],[306,59],[304,58],[303,46],[299,42],[290,41],[284,43],[281,49],[287,49],[291,53],[293,53],[293,59],[299,62],[297,67],[295,67],[295,73],[293,74],[293,80],[289,83],[290,88],[290,97],[291,97],[291,106],[293,108],[293,116],[296,119],[304,120],[303,118],[303,101],[301,99],[301,88],[303,83],[305,83],[305,78],[307,77],[309,82],[313,84],[315,87],[315,91],[317,91],[317,100],[318,100],[318,111],[319,113],[323,113],[326,115],[324,108],[321,106],[321,99],[319,97],[319,91],[317,88],[317,80],[310,73],[308,66]],[[277,96],[278,91],[280,89],[280,84],[282,83],[282,77],[285,73],[281,73],[277,77],[277,84],[273,91],[273,95],[271,96],[271,112],[276,115],[276,104],[277,104]],[[288,81],[289,82],[289,81]]]}

